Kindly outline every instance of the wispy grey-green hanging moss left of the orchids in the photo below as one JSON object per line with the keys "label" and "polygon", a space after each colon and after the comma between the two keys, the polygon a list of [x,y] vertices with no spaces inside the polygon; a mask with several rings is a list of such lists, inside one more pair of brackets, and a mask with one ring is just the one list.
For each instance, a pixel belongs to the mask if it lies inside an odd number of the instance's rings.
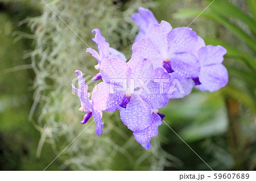
{"label": "wispy grey-green hanging moss left of the orchids", "polygon": [[[137,26],[130,16],[139,6],[154,7],[152,1],[49,1],[54,10],[78,37],[47,5],[42,2],[42,15],[29,20],[35,33],[36,48],[31,52],[34,81],[34,104],[30,118],[39,114],[36,128],[41,133],[37,155],[44,144],[51,144],[58,155],[86,127],[85,131],[57,158],[63,161],[60,169],[69,170],[163,170],[175,157],[164,152],[159,138],[152,148],[144,150],[135,140],[118,113],[104,113],[103,134],[95,134],[92,119],[81,125],[83,113],[80,102],[72,95],[71,81],[75,70],[95,75],[96,60],[85,50],[86,44],[96,48],[91,31],[100,28],[110,46],[121,50],[129,59]],[[86,43],[84,43],[84,42]],[[88,81],[90,78],[88,79]],[[93,83],[94,85],[94,83]],[[92,86],[89,85],[89,90]],[[90,124],[90,125],[89,125]],[[55,162],[52,163],[54,165]],[[47,168],[51,170],[51,166]]]}

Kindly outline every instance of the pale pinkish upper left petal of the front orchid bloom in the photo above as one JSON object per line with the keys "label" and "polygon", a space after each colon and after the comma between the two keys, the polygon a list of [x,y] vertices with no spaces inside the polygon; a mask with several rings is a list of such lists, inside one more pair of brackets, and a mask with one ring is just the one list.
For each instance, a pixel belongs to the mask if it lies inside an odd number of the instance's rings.
{"label": "pale pinkish upper left petal of the front orchid bloom", "polygon": [[107,58],[101,63],[101,77],[105,82],[110,79],[126,79],[129,77],[131,70],[126,62],[117,58]]}

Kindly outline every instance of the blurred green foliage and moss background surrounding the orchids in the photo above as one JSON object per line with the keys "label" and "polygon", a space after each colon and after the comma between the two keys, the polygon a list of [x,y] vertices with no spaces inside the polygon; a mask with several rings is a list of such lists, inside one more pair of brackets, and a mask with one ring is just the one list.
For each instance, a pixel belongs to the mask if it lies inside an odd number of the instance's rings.
{"label": "blurred green foliage and moss background surrounding the orchids", "polygon": [[[100,28],[128,59],[138,32],[130,16],[139,6],[176,28],[212,2],[44,1],[90,47],[96,49],[91,31]],[[0,170],[44,170],[86,127],[70,84],[76,69],[96,74],[96,60],[52,10],[41,0],[0,0]],[[193,90],[160,110],[213,170],[256,170],[255,21],[254,0],[214,1],[190,27],[228,50],[229,83],[212,93]],[[91,124],[47,170],[210,170],[165,124],[144,150],[118,111],[102,120],[100,137]]]}

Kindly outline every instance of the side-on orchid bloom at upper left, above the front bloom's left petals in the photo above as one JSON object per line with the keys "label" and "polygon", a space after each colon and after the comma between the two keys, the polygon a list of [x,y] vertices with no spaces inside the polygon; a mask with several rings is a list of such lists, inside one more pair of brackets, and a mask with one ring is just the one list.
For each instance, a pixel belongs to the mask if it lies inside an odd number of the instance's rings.
{"label": "side-on orchid bloom at upper left, above the front bloom's left petals", "polygon": [[[101,61],[105,58],[115,57],[126,62],[125,55],[109,46],[105,37],[101,35],[100,29],[96,28],[92,32],[95,33],[95,37],[92,40],[96,43],[98,52],[92,48],[87,48],[86,52],[92,54],[92,56],[98,61],[98,64],[94,66],[96,70],[100,69]],[[98,79],[101,79],[100,73],[96,74],[96,76],[92,78],[93,81],[97,81]]]}

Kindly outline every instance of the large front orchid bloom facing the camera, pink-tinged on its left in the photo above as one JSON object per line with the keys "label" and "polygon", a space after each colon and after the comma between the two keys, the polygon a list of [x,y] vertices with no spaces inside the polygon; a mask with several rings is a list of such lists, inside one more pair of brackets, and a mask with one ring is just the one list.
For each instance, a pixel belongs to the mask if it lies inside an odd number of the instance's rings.
{"label": "large front orchid bloom facing the camera, pink-tinged on its left", "polygon": [[136,140],[140,135],[145,137],[138,142],[144,148],[150,148],[148,141],[156,136],[160,125],[152,116],[152,110],[168,103],[168,96],[160,94],[159,84],[152,81],[154,69],[150,60],[138,56],[127,63],[117,58],[107,58],[103,62],[101,75],[104,82],[94,87],[92,93],[94,108],[109,112],[119,110],[122,122],[134,132]]}

